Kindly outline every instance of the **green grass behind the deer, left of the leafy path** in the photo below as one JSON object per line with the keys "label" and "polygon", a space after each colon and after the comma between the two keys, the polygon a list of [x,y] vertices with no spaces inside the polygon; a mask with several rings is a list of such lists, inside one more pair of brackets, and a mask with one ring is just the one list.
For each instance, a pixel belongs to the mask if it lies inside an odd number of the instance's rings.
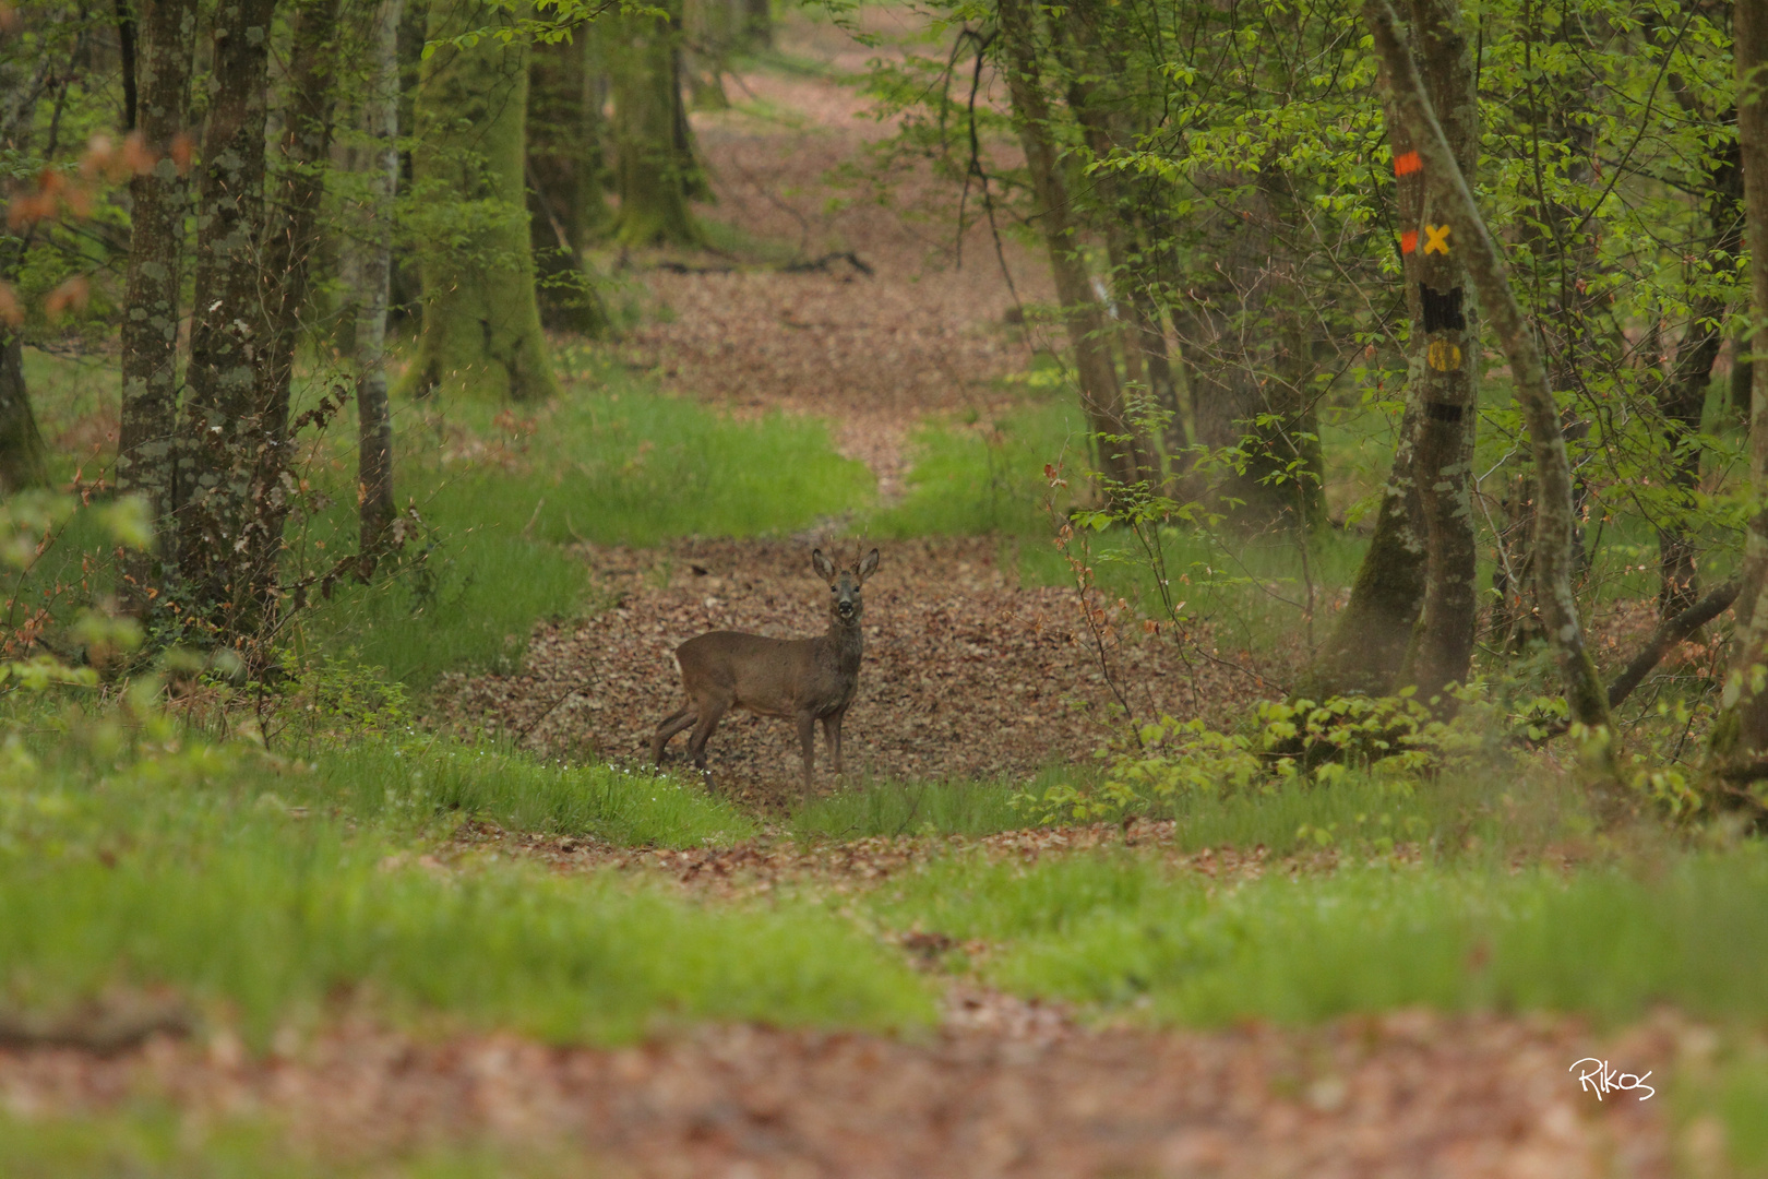
{"label": "green grass behind the deer, left of the leafy path", "polygon": [[[815,421],[739,422],[566,350],[566,396],[529,417],[504,407],[396,410],[400,497],[431,529],[403,576],[339,582],[302,638],[426,686],[444,670],[511,670],[537,619],[587,603],[583,560],[566,546],[659,544],[677,536],[764,536],[859,509],[872,475],[840,458]],[[461,451],[488,445],[461,460]],[[338,472],[354,470],[345,458]],[[336,479],[336,475],[332,475]],[[354,544],[354,495],[316,521],[304,560]],[[327,541],[313,550],[311,541]]]}

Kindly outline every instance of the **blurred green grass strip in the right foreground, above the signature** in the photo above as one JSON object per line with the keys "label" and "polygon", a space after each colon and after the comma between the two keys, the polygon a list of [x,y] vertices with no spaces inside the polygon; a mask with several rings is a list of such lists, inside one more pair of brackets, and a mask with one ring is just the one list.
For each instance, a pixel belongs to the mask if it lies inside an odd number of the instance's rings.
{"label": "blurred green grass strip in the right foreground, above the signature", "polygon": [[1688,856],[1651,875],[1480,866],[1356,868],[1209,886],[1130,854],[1001,864],[949,857],[880,894],[879,916],[999,949],[1008,990],[1160,1020],[1315,1022],[1354,1011],[1579,1011],[1657,1002],[1768,1018],[1768,856]]}

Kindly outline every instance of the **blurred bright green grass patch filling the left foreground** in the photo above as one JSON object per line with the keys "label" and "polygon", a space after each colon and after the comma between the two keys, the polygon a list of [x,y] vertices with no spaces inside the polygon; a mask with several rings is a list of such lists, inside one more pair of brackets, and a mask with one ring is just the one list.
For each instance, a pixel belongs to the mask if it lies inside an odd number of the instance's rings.
{"label": "blurred bright green grass patch filling the left foreground", "polygon": [[[714,910],[495,852],[430,870],[415,859],[424,841],[377,822],[375,785],[385,799],[401,783],[373,758],[332,764],[332,817],[290,806],[304,780],[325,781],[324,762],[316,774],[276,772],[194,746],[106,769],[113,757],[95,742],[83,765],[14,760],[0,772],[0,993],[11,1002],[55,1009],[115,985],[171,986],[258,1045],[339,995],[392,1020],[587,1043],[695,1020],[889,1029],[932,1016],[905,965],[815,907]],[[476,790],[497,797],[446,760],[428,762],[437,785],[424,788],[437,794],[414,790],[424,810]],[[573,783],[594,780],[530,771],[527,788],[502,797],[555,824],[573,806],[598,810],[594,790],[568,799]],[[585,825],[691,831],[682,815],[693,808],[661,785],[601,810]]]}

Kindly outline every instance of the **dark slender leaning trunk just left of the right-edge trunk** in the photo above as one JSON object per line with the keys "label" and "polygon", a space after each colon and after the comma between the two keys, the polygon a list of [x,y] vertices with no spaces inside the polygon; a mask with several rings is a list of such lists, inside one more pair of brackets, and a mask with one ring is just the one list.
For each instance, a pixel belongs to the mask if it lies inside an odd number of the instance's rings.
{"label": "dark slender leaning trunk just left of the right-edge trunk", "polygon": [[[1733,111],[1726,122],[1736,117]],[[1733,141],[1720,150],[1706,186],[1708,256],[1734,258],[1743,247],[1743,161]],[[1673,619],[1701,596],[1696,573],[1694,537],[1681,518],[1694,507],[1694,490],[1701,483],[1701,412],[1706,387],[1713,380],[1713,361],[1724,343],[1726,300],[1715,295],[1696,299],[1688,308],[1688,327],[1676,343],[1676,361],[1669,378],[1658,385],[1664,414],[1664,442],[1671,451],[1671,486],[1680,502],[1676,516],[1658,527],[1658,615]]]}

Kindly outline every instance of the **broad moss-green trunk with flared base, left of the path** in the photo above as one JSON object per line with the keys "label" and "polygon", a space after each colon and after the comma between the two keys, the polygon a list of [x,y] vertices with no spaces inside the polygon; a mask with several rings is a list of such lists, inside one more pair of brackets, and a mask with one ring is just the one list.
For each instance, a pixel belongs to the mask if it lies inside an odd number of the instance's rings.
{"label": "broad moss-green trunk with flared base, left of the path", "polygon": [[[479,0],[437,0],[428,37],[446,42],[511,19]],[[437,44],[424,62],[412,180],[419,194],[435,193],[437,240],[423,255],[424,325],[405,378],[417,394],[537,401],[559,392],[529,246],[527,55],[522,39],[484,37],[469,49]],[[461,221],[470,228],[461,232]]]}

